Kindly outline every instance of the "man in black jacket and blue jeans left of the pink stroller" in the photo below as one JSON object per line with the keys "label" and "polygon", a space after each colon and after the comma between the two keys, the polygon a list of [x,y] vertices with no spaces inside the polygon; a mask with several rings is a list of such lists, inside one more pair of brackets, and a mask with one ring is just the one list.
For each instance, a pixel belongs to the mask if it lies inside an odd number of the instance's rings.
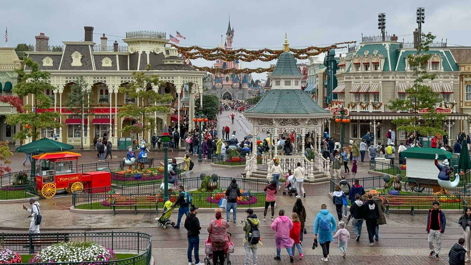
{"label": "man in black jacket and blue jeans left of the pink stroller", "polygon": [[185,219],[185,228],[187,229],[187,237],[188,237],[188,264],[193,264],[191,258],[191,251],[195,249],[195,264],[200,264],[200,257],[199,257],[199,246],[200,246],[200,220],[196,217],[198,207],[192,205],[190,208],[190,214],[188,215],[187,219]]}

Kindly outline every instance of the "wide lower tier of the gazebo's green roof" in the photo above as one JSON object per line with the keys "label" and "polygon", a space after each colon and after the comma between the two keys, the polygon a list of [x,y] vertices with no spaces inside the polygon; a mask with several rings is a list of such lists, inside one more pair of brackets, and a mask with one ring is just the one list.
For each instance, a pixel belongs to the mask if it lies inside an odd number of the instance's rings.
{"label": "wide lower tier of the gazebo's green roof", "polygon": [[271,89],[244,113],[330,115],[301,89]]}

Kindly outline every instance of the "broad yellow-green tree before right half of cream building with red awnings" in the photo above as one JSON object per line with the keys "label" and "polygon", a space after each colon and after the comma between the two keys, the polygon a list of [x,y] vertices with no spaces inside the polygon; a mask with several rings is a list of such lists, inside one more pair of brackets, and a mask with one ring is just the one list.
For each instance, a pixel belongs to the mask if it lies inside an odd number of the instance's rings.
{"label": "broad yellow-green tree before right half of cream building with red awnings", "polygon": [[[147,71],[150,65],[147,65]],[[136,104],[125,104],[119,109],[118,116],[121,118],[133,118],[138,120],[134,125],[122,128],[124,132],[146,135],[154,124],[154,112],[170,112],[170,108],[163,105],[155,105],[171,102],[174,98],[171,94],[160,94],[158,88],[162,85],[159,76],[149,75],[146,72],[133,72],[129,87],[119,88],[120,93],[127,94],[130,98],[137,99]],[[157,88],[154,90],[153,88]]]}

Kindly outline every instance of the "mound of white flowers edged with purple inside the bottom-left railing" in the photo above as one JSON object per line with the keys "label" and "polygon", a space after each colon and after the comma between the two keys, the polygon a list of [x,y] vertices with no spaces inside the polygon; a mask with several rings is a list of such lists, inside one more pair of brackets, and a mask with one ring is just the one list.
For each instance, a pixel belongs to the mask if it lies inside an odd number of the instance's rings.
{"label": "mound of white flowers edged with purple inside the bottom-left railing", "polygon": [[30,263],[40,262],[90,262],[116,260],[114,251],[96,242],[62,242],[51,245],[34,254]]}

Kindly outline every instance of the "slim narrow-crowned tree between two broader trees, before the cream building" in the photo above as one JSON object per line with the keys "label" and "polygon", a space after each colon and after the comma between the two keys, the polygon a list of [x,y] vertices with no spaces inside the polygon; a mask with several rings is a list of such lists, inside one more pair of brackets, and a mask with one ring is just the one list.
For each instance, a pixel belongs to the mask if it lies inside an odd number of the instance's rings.
{"label": "slim narrow-crowned tree between two broader trees, before the cream building", "polygon": [[77,80],[74,80],[74,84],[70,88],[70,93],[67,94],[66,106],[68,110],[73,113],[81,116],[80,122],[80,149],[83,149],[83,131],[84,127],[84,116],[89,116],[90,114],[90,103],[93,99],[90,99],[91,89],[87,89],[87,82],[80,76]]}

